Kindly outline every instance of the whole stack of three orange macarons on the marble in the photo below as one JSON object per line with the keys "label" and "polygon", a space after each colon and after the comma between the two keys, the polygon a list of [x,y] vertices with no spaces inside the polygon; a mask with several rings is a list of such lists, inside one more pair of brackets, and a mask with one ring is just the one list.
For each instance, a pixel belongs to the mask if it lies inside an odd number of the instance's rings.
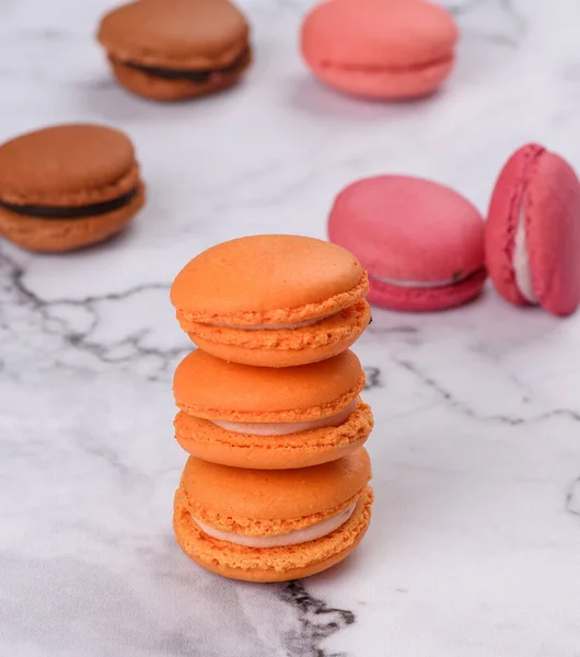
{"label": "whole stack of three orange macarons on the marble", "polygon": [[348,251],[297,235],[224,242],[190,261],[172,303],[199,349],[174,378],[189,452],[174,529],[205,568],[252,581],[320,573],[369,526],[373,419],[349,347],[370,321]]}

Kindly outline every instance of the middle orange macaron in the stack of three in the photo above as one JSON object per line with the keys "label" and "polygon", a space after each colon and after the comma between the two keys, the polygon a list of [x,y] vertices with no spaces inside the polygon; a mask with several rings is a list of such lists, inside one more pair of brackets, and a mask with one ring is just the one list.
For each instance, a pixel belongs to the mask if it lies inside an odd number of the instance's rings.
{"label": "middle orange macaron in the stack of three", "polygon": [[175,436],[190,454],[223,465],[278,470],[334,461],[369,437],[359,393],[364,372],[350,350],[322,362],[255,368],[199,349],[178,365]]}

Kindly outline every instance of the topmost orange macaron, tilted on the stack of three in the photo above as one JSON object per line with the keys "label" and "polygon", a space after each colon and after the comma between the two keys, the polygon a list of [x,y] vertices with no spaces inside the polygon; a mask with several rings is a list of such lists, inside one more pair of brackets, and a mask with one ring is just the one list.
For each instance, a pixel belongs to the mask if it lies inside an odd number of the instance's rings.
{"label": "topmost orange macaron, tilted on the stack of three", "polygon": [[348,349],[370,322],[367,274],[345,249],[299,235],[223,242],[177,275],[171,301],[201,349],[290,367]]}

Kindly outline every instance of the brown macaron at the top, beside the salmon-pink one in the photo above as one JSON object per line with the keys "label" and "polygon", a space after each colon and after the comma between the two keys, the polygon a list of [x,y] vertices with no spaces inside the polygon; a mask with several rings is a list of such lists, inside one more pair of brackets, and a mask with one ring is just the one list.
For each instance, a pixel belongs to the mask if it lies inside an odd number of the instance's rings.
{"label": "brown macaron at the top, beside the salmon-pink one", "polygon": [[97,38],[129,91],[156,101],[234,84],[252,60],[250,28],[228,0],[138,0],[101,21]]}

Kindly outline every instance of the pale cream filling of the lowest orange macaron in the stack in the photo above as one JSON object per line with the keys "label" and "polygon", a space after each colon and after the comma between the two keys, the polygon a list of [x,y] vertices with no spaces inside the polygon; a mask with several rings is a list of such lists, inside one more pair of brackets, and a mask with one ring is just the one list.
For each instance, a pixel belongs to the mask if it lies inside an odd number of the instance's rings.
{"label": "pale cream filling of the lowest orange macaron in the stack", "polygon": [[351,504],[340,512],[336,514],[336,516],[330,516],[330,518],[326,518],[326,520],[323,520],[322,522],[277,537],[244,537],[213,529],[213,527],[201,522],[201,520],[198,520],[195,516],[192,516],[192,518],[199,528],[208,534],[208,537],[217,539],[218,541],[228,541],[229,543],[244,545],[245,548],[286,548],[287,545],[298,545],[299,543],[315,541],[316,539],[322,539],[322,537],[332,533],[350,519],[356,507],[356,503]]}

